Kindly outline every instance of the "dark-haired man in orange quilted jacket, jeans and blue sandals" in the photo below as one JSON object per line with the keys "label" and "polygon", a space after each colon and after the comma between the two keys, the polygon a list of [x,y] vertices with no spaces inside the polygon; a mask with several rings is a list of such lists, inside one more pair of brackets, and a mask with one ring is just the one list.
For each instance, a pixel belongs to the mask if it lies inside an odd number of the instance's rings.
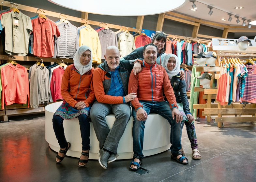
{"label": "dark-haired man in orange quilted jacket, jeans and blue sandals", "polygon": [[[173,88],[165,69],[156,63],[157,47],[150,43],[143,48],[142,71],[137,75],[131,73],[128,93],[136,93],[137,97],[131,101],[133,105],[133,161],[130,169],[140,168],[143,159],[143,137],[147,116],[150,112],[161,115],[171,124],[171,158],[182,164],[188,160],[179,152],[181,149],[182,114],[178,110]],[[169,104],[164,101],[164,96]],[[176,119],[175,119],[176,118]]]}

